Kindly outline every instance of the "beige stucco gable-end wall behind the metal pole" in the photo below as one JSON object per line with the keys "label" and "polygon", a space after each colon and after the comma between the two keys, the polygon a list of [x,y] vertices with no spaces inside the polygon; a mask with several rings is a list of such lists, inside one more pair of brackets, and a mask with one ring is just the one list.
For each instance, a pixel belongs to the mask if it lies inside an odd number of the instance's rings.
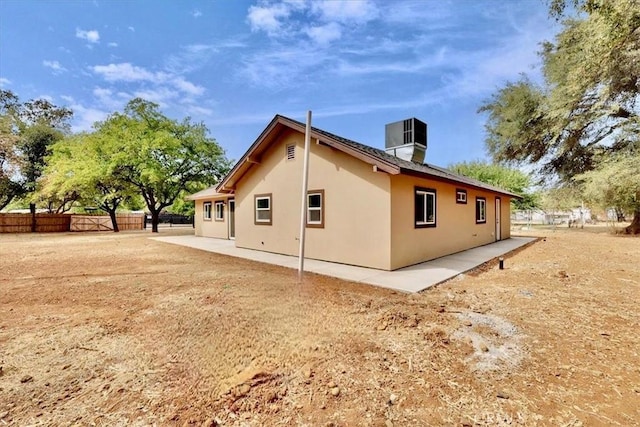
{"label": "beige stucco gable-end wall behind the metal pole", "polygon": [[[295,159],[286,146],[295,144]],[[297,255],[304,135],[285,131],[235,189],[236,245]],[[390,268],[390,179],[368,165],[312,141],[309,190],[324,190],[324,228],[306,229],[308,258]],[[272,224],[254,223],[254,196],[271,194]]]}

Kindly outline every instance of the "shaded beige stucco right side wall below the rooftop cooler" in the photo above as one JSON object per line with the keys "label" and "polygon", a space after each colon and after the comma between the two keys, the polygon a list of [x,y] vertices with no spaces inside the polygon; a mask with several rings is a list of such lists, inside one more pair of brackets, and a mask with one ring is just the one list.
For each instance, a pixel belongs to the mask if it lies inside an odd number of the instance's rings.
{"label": "shaded beige stucco right side wall below the rooftop cooler", "polygon": [[[415,228],[415,187],[436,190],[436,226]],[[467,203],[456,203],[456,188],[467,190]],[[492,243],[496,194],[407,175],[391,177],[391,269]],[[476,197],[487,202],[486,222],[476,223]],[[502,238],[509,237],[509,198],[501,197]]]}

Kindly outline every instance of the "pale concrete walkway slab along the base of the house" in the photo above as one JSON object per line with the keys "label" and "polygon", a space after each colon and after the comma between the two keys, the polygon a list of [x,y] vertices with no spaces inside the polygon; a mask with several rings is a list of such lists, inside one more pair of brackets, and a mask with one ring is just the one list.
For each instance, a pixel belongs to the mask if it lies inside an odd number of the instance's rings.
{"label": "pale concrete walkway slab along the base of the house", "polygon": [[[193,235],[153,237],[152,239],[293,269],[298,268],[297,257],[236,248],[233,240]],[[465,271],[472,270],[494,258],[505,256],[509,252],[526,246],[535,240],[532,237],[511,237],[507,240],[501,240],[395,271],[376,270],[313,259],[305,259],[304,269],[313,273],[352,282],[382,286],[402,292],[420,292]]]}

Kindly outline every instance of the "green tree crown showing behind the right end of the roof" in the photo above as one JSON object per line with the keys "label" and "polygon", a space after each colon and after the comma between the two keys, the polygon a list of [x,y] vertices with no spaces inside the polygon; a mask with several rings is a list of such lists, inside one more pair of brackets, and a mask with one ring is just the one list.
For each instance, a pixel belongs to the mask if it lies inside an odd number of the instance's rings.
{"label": "green tree crown showing behind the right end of the roof", "polygon": [[477,179],[518,194],[522,199],[513,200],[515,209],[533,209],[538,206],[538,194],[531,191],[531,177],[519,169],[481,161],[462,162],[449,166],[457,174]]}

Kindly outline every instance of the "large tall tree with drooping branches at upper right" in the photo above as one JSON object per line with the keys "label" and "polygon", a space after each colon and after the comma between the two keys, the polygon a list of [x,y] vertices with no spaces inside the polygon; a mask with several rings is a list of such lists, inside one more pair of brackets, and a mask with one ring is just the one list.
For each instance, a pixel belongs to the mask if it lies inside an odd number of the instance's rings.
{"label": "large tall tree with drooping branches at upper right", "polygon": [[[640,134],[640,0],[570,4],[581,15],[543,45],[543,84],[523,76],[480,108],[495,161],[539,166],[561,184],[628,151]],[[565,6],[553,0],[552,15],[564,18]]]}

